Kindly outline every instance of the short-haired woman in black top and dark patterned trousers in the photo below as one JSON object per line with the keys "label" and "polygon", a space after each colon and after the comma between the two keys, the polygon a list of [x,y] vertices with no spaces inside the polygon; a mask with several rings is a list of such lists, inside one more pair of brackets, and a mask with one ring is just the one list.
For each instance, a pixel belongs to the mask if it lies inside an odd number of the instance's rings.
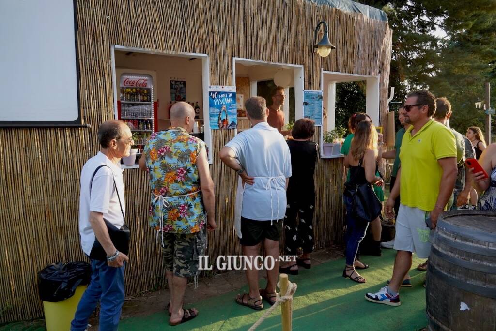
{"label": "short-haired woman in black top and dark patterned trousers", "polygon": [[[292,176],[287,190],[287,209],[284,221],[286,242],[285,255],[297,255],[302,248],[303,255],[296,263],[282,264],[280,273],[298,275],[298,266],[310,269],[310,253],[313,251],[313,210],[315,206],[315,187],[313,173],[317,162],[318,145],[310,139],[315,132],[314,122],[301,118],[295,122],[288,140],[291,153]],[[298,221],[297,221],[298,218]]]}

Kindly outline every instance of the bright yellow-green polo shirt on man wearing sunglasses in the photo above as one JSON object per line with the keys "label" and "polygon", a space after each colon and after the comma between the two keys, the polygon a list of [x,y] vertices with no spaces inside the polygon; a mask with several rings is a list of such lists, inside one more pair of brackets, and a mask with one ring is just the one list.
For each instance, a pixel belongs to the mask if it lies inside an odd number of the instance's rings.
{"label": "bright yellow-green polo shirt on man wearing sunglasses", "polygon": [[431,119],[415,135],[406,130],[401,143],[401,204],[431,212],[439,195],[442,168],[437,160],[456,158],[455,136]]}

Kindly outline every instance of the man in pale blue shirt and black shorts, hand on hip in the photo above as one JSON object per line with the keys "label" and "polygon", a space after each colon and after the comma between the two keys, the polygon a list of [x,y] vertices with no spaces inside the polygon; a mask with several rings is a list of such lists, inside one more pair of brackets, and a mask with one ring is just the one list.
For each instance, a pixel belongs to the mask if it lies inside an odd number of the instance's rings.
{"label": "man in pale blue shirt and black shorts, hand on hip", "polygon": [[247,268],[249,293],[238,295],[236,302],[255,310],[276,299],[279,271],[279,239],[286,213],[286,188],[291,177],[291,155],[284,137],[267,123],[269,110],[262,97],[245,103],[251,129],[241,132],[221,150],[220,158],[240,175],[236,194],[235,227],[243,253],[253,260],[263,243],[265,255],[275,265],[267,270],[267,286],[258,289],[258,270],[253,262]]}

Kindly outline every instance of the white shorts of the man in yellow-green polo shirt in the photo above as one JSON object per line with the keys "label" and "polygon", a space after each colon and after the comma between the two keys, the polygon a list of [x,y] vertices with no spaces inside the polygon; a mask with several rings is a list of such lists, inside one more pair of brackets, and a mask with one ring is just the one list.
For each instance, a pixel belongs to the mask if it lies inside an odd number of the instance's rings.
{"label": "white shorts of the man in yellow-green polo shirt", "polygon": [[426,224],[431,213],[416,207],[400,204],[396,218],[394,249],[417,253],[419,258],[427,259],[431,253],[431,240],[434,231]]}

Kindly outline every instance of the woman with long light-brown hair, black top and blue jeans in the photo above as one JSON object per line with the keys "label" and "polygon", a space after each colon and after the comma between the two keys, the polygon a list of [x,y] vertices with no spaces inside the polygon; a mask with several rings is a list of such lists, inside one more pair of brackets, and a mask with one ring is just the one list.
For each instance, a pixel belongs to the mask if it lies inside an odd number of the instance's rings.
{"label": "woman with long light-brown hair, black top and blue jeans", "polygon": [[[378,156],[377,130],[372,122],[362,121],[356,126],[355,136],[351,142],[350,153],[344,159],[344,165],[350,168],[350,179],[346,183],[344,201],[346,205],[346,267],[343,277],[359,283],[365,283],[364,277],[357,273],[355,260],[358,246],[365,236],[369,222],[360,221],[353,217],[353,197],[348,188],[360,184],[371,183],[381,186],[382,178],[376,176]],[[378,221],[378,217],[374,221]],[[365,268],[360,268],[365,269]]]}

